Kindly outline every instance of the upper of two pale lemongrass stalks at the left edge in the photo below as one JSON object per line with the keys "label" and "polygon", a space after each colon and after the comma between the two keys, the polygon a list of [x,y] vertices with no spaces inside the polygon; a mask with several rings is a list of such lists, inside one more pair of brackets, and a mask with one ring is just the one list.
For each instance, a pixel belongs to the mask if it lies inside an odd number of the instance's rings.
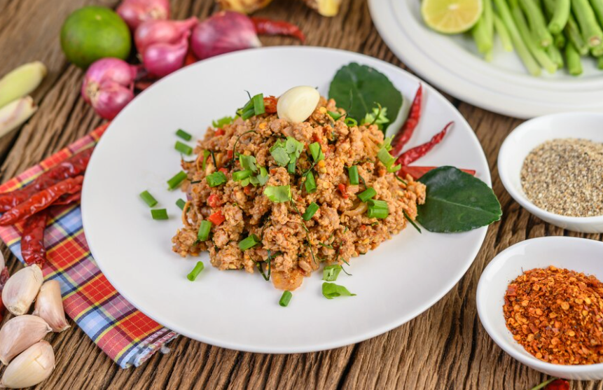
{"label": "upper of two pale lemongrass stalks at the left edge", "polygon": [[47,74],[39,61],[23,64],[0,79],[0,109],[15,99],[29,95],[38,88]]}

